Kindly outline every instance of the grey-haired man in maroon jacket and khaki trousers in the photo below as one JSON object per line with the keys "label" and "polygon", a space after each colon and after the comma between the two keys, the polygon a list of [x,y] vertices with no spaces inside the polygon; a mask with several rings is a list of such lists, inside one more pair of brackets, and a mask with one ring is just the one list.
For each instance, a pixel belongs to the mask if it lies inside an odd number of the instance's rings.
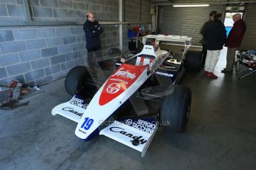
{"label": "grey-haired man in maroon jacket and khaki trousers", "polygon": [[228,47],[228,52],[226,55],[226,68],[221,70],[223,73],[233,71],[235,51],[237,50],[237,47],[240,47],[243,41],[243,35],[246,32],[246,23],[243,21],[241,14],[234,14],[232,18],[234,26],[232,27],[232,30],[230,30],[225,43],[225,47]]}

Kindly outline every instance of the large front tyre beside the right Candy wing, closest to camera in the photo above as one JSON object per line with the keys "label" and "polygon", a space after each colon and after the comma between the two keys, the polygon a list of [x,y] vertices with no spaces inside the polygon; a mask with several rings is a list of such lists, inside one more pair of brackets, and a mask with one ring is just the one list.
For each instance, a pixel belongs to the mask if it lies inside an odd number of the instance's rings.
{"label": "large front tyre beside the right Candy wing, closest to camera", "polygon": [[191,90],[176,85],[171,95],[165,96],[160,112],[160,123],[165,129],[183,132],[188,123],[191,105]]}

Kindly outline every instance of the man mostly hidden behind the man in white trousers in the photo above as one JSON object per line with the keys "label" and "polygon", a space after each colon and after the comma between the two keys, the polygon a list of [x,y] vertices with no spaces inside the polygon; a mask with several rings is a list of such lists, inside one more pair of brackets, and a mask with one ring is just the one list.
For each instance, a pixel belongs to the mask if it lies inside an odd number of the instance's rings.
{"label": "man mostly hidden behind the man in white trousers", "polygon": [[[201,27],[201,30],[200,30],[200,34],[203,35],[204,33],[206,33],[206,28],[209,26],[209,24],[211,24],[211,21],[214,21],[214,15],[216,14],[217,12],[216,11],[211,11],[211,13],[209,14],[210,18],[208,21],[206,21],[203,26]],[[205,38],[202,38],[202,40],[200,41],[200,43],[202,44],[203,46],[203,67],[206,63],[206,55],[207,55],[207,44],[206,44],[206,39]]]}

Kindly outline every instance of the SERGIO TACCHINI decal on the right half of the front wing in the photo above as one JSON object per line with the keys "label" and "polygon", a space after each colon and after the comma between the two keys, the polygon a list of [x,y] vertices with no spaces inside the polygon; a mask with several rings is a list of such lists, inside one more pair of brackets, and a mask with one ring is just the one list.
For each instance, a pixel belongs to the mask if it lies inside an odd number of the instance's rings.
{"label": "SERGIO TACCHINI decal on the right half of the front wing", "polygon": [[125,124],[131,127],[134,127],[136,129],[139,129],[140,131],[147,132],[149,134],[152,134],[154,132],[154,129],[156,129],[156,124],[150,123],[146,120],[125,120]]}

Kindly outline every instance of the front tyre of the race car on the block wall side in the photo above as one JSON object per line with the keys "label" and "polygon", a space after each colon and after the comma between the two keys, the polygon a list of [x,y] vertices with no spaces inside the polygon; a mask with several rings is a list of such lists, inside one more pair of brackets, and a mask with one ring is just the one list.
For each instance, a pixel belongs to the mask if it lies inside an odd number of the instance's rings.
{"label": "front tyre of the race car on the block wall side", "polygon": [[69,95],[91,95],[95,86],[88,85],[91,75],[88,69],[83,66],[76,66],[70,69],[65,79],[65,89]]}

